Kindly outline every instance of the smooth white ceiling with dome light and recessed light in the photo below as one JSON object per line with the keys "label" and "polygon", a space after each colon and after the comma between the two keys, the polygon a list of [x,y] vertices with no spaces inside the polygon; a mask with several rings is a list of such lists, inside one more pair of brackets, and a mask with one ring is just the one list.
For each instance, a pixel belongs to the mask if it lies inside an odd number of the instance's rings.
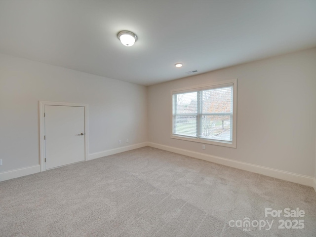
{"label": "smooth white ceiling with dome light and recessed light", "polygon": [[316,0],[0,1],[0,53],[141,85],[315,46]]}

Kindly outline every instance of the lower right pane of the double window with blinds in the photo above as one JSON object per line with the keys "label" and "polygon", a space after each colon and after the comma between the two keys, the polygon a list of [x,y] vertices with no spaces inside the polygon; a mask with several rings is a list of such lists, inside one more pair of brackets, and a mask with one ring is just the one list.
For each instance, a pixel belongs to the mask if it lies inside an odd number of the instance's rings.
{"label": "lower right pane of the double window with blinds", "polygon": [[202,115],[201,137],[223,141],[232,141],[231,116],[227,115]]}

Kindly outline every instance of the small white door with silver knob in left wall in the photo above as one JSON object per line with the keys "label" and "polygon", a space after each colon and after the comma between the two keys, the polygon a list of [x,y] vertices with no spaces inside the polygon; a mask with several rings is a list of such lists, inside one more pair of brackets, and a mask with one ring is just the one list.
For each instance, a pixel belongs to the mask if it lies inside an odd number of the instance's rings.
{"label": "small white door with silver knob in left wall", "polygon": [[85,160],[84,107],[45,105],[46,169]]}

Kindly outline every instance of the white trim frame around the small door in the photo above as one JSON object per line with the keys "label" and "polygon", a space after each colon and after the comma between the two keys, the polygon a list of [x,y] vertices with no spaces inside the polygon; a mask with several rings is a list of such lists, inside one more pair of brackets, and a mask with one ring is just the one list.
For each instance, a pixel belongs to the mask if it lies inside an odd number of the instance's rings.
{"label": "white trim frame around the small door", "polygon": [[40,171],[45,171],[45,118],[44,111],[45,105],[55,105],[55,106],[75,106],[84,107],[84,160],[88,158],[88,104],[80,103],[68,103],[68,102],[53,102],[53,101],[40,101]]}

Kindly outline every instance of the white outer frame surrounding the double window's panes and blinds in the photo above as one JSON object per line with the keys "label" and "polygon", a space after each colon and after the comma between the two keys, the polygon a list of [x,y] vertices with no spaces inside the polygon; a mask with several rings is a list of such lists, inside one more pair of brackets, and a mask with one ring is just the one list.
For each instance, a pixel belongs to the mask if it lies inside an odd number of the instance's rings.
{"label": "white outer frame surrounding the double window's panes and blinds", "polygon": [[[173,134],[173,95],[174,94],[185,93],[185,92],[195,92],[195,91],[199,91],[199,90],[207,90],[207,89],[213,89],[213,88],[220,88],[220,87],[225,87],[228,85],[230,85],[230,86],[233,85],[233,129],[231,131],[232,132],[232,141],[205,139],[205,138],[199,138],[199,137],[197,137],[197,138],[196,137],[187,137],[187,136]],[[210,84],[197,85],[197,86],[191,86],[191,87],[180,88],[180,89],[172,89],[170,91],[170,115],[171,115],[170,116],[170,138],[236,148],[237,147],[236,146],[236,143],[237,143],[236,142],[236,138],[237,138],[237,79],[218,81],[218,82],[213,82]]]}

